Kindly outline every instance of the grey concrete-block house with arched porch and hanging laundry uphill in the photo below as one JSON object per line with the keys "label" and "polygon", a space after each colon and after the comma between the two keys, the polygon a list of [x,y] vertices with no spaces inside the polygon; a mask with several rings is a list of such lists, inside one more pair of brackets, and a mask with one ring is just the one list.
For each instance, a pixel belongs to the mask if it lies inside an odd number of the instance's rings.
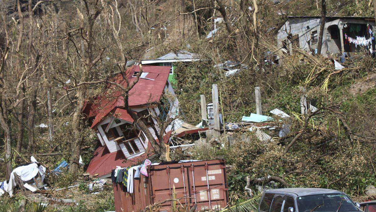
{"label": "grey concrete-block house with arched porch and hanging laundry uphill", "polygon": [[[320,16],[289,16],[277,33],[277,46],[285,54],[293,54],[299,48],[317,53],[320,34]],[[326,17],[321,54],[343,54],[352,56],[355,52],[375,49],[372,30],[374,18],[368,17]]]}

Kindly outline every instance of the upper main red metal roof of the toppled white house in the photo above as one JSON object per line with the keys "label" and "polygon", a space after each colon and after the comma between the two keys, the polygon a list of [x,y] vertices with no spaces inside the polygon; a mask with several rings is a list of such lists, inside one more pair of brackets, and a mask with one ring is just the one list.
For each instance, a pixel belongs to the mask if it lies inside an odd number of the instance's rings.
{"label": "upper main red metal roof of the toppled white house", "polygon": [[[129,91],[129,106],[139,106],[148,103],[158,102],[164,91],[167,83],[168,75],[170,74],[170,67],[168,66],[142,66],[143,72],[148,72],[148,75],[153,80],[146,78],[139,78],[138,83]],[[139,72],[139,66],[132,66],[129,68],[124,76],[127,77],[129,83],[136,80],[132,77],[134,72]],[[127,85],[123,74],[118,74],[112,79],[113,81],[123,85]],[[98,96],[93,102],[86,102],[83,112],[88,117],[94,117],[91,128],[96,126],[102,119],[117,107],[124,106],[124,100],[121,96],[122,91],[115,85],[109,85],[104,95]],[[129,115],[129,114],[128,114]]]}

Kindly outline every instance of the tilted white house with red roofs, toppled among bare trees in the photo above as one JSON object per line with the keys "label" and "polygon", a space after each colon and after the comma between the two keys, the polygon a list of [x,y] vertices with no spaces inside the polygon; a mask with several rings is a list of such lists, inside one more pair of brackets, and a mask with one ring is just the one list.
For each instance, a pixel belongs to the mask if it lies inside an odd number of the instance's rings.
{"label": "tilted white house with red roofs, toppled among bare trees", "polygon": [[[129,83],[136,80],[138,72],[139,66],[136,65],[126,71]],[[130,108],[139,117],[147,117],[143,118],[143,122],[155,139],[153,126],[156,129],[159,129],[159,126],[149,113],[164,121],[169,117],[174,118],[178,112],[179,103],[168,80],[169,74],[170,68],[166,66],[143,66],[139,81],[129,91]],[[118,74],[113,80],[126,86],[122,74]],[[171,98],[166,98],[163,94]],[[135,121],[124,108],[120,88],[108,86],[104,95],[85,104],[83,112],[100,141],[100,146],[94,151],[86,170],[88,173],[109,177],[116,166],[132,166],[149,156],[151,144],[145,132],[137,124],[133,124]],[[167,127],[165,134],[170,134],[173,129],[180,127],[180,122],[174,125],[175,122]]]}

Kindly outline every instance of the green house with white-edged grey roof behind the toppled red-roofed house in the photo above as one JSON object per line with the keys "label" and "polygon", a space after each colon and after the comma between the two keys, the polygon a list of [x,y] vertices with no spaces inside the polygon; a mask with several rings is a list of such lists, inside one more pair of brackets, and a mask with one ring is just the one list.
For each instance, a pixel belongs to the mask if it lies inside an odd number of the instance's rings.
{"label": "green house with white-edged grey roof behind the toppled red-roofed house", "polygon": [[176,70],[176,63],[177,62],[184,62],[189,63],[192,61],[200,60],[200,56],[186,50],[178,50],[176,52],[170,52],[162,57],[156,58],[154,60],[141,60],[142,65],[150,65],[150,66],[166,66],[170,68],[170,74],[168,76],[168,80],[175,84],[176,80],[174,78]]}

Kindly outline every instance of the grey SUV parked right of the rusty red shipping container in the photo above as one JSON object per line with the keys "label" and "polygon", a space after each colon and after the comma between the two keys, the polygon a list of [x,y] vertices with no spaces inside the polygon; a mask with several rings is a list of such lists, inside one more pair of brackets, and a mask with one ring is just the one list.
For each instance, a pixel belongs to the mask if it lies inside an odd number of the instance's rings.
{"label": "grey SUV parked right of the rusty red shipping container", "polygon": [[338,190],[287,188],[265,191],[258,212],[355,212],[357,206]]}

